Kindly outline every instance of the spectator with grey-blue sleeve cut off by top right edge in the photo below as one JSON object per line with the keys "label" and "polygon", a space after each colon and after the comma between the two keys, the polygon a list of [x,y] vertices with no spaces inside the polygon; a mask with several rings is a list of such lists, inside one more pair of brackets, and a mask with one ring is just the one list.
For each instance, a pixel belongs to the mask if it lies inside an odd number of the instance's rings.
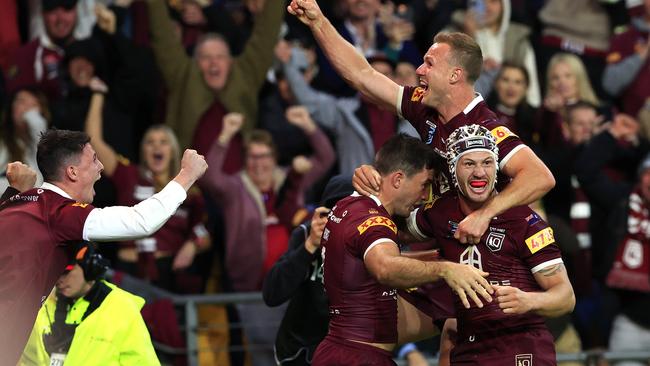
{"label": "spectator with grey-blue sleeve cut off by top right edge", "polygon": [[650,97],[650,1],[644,1],[642,16],[632,18],[630,27],[612,38],[603,89],[618,97],[622,111],[635,116]]}

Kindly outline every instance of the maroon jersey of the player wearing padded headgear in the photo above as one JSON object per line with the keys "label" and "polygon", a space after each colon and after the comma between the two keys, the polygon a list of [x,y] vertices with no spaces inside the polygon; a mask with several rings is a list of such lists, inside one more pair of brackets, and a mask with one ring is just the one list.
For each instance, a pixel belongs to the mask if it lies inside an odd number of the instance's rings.
{"label": "maroon jersey of the player wearing padded headgear", "polygon": [[[429,207],[429,206],[427,206]],[[490,273],[491,284],[513,286],[522,291],[543,291],[533,273],[562,263],[553,231],[528,206],[511,208],[490,222],[478,245],[461,244],[454,239],[458,223],[465,217],[457,195],[445,195],[431,208],[416,212],[420,235],[435,238],[441,255],[450,261],[471,264]],[[496,301],[466,309],[455,297],[459,339],[496,329],[544,327],[544,319],[534,313],[505,314]]]}

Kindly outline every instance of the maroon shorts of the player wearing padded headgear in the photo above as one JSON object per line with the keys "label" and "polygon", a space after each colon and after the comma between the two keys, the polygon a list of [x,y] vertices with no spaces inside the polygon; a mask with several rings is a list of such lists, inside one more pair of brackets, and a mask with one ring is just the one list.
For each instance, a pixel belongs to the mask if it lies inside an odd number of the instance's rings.
{"label": "maroon shorts of the player wearing padded headgear", "polygon": [[[471,339],[470,339],[471,338]],[[452,365],[555,366],[553,336],[545,328],[518,332],[490,331],[460,338],[451,351]]]}

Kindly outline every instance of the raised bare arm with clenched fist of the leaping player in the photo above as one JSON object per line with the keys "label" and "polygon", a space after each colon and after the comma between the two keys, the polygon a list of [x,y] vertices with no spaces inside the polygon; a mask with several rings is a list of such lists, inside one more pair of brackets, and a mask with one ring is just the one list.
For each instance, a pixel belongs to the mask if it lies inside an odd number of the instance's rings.
{"label": "raised bare arm with clenched fist of the leaping player", "polygon": [[330,63],[348,84],[373,103],[395,110],[400,86],[375,71],[363,55],[341,37],[315,0],[292,0],[287,10],[311,29]]}

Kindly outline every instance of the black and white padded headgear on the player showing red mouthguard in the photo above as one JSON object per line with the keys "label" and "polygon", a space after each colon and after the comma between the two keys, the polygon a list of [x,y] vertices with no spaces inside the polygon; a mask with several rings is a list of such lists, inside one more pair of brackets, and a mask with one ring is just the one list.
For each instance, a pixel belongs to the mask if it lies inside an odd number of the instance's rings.
{"label": "black and white padded headgear on the player showing red mouthguard", "polygon": [[487,151],[492,154],[497,163],[497,170],[499,169],[499,148],[490,130],[480,125],[458,127],[447,138],[447,164],[456,189],[460,189],[456,177],[456,164],[461,156],[473,151]]}

